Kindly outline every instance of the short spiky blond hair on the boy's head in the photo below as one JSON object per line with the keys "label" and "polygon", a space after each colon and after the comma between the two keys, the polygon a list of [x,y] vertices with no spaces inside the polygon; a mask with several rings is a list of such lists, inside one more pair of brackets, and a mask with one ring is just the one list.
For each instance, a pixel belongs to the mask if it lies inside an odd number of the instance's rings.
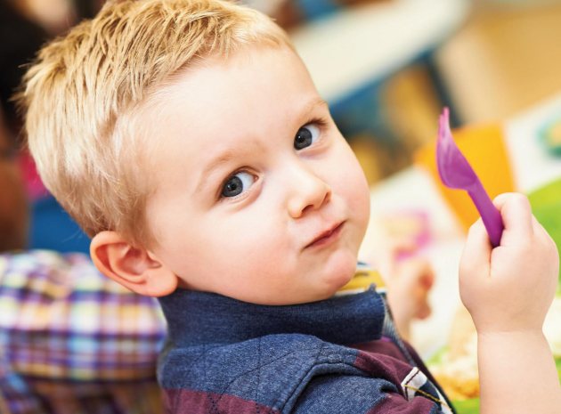
{"label": "short spiky blond hair on the boy's head", "polygon": [[18,96],[46,187],[84,231],[156,241],[146,227],[150,180],[138,173],[134,113],[183,69],[248,45],[289,45],[255,10],[225,0],[110,1],[46,45]]}

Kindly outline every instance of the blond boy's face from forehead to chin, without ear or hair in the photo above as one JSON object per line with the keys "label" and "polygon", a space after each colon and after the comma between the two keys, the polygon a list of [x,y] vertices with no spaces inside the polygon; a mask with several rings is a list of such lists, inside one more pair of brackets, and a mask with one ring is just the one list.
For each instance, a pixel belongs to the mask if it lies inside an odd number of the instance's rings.
{"label": "blond boy's face from forehead to chin, without ear or hair", "polygon": [[258,304],[332,296],[354,275],[369,189],[289,48],[207,60],[143,122],[151,253],[183,288]]}

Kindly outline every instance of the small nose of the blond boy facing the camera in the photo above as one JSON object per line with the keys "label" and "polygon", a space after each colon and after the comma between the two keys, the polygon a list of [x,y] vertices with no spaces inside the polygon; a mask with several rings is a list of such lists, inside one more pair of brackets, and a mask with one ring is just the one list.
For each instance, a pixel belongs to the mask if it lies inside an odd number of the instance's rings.
{"label": "small nose of the blond boy facing the camera", "polygon": [[288,209],[292,218],[299,218],[307,211],[316,210],[331,198],[331,187],[311,171],[300,169],[292,177],[292,189],[289,193]]}

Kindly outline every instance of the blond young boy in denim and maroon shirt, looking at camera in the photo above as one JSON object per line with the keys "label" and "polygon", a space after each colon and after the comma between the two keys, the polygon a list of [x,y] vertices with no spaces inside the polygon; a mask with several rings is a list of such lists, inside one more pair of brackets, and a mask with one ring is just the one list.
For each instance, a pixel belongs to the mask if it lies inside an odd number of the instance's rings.
{"label": "blond young boy in denim and maroon shirt, looking at camera", "polygon": [[[39,54],[21,101],[47,187],[111,279],[159,296],[174,413],[449,413],[374,288],[336,295],[369,219],[362,171],[286,34],[219,0],[115,1]],[[498,200],[460,266],[483,413],[561,407],[541,323],[558,258]]]}

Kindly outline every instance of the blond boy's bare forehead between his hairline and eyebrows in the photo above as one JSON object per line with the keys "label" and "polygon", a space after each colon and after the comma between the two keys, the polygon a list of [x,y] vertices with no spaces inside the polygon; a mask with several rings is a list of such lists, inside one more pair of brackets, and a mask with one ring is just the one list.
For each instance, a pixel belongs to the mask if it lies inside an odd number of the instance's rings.
{"label": "blond boy's bare forehead between his hairline and eyebrows", "polygon": [[178,74],[159,97],[160,108],[150,108],[141,122],[153,129],[157,146],[182,142],[182,153],[166,157],[197,170],[209,160],[220,165],[244,149],[255,151],[265,135],[295,134],[319,108],[322,115],[328,110],[289,47],[207,58]]}

